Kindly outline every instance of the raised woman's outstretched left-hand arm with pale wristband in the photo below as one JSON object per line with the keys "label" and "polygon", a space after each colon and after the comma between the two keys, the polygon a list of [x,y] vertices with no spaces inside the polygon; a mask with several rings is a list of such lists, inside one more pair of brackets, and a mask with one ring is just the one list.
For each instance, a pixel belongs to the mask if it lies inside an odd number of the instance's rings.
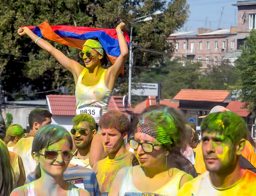
{"label": "raised woman's outstretched left-hand arm with pale wristband", "polygon": [[27,27],[21,27],[18,29],[18,34],[20,36],[27,35],[30,37],[36,44],[42,48],[43,50],[46,50],[48,53],[54,56],[54,58],[67,70],[69,70],[74,78],[75,81],[77,80],[76,77],[79,77],[81,71],[84,69],[84,67],[79,64],[78,62],[69,59],[65,54],[63,54],[58,49],[54,48],[52,44],[48,43],[47,41],[40,39],[36,34],[34,34],[29,28]]}

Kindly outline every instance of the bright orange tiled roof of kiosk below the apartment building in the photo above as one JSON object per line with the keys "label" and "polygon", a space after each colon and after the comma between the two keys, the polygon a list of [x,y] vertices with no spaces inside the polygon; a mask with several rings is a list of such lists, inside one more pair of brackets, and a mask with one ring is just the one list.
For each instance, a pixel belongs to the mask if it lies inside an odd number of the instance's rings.
{"label": "bright orange tiled roof of kiosk below the apartment building", "polygon": [[228,91],[182,89],[173,99],[205,102],[224,102],[224,100],[228,96]]}

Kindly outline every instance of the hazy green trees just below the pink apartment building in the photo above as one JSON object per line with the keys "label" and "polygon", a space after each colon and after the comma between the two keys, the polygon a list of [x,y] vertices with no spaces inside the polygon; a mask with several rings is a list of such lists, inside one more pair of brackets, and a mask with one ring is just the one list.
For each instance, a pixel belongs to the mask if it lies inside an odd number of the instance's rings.
{"label": "hazy green trees just below the pink apartment building", "polygon": [[227,90],[235,85],[235,67],[229,64],[211,65],[203,69],[199,62],[162,61],[160,67],[142,72],[140,78],[164,80],[164,98],[173,98],[181,89]]}

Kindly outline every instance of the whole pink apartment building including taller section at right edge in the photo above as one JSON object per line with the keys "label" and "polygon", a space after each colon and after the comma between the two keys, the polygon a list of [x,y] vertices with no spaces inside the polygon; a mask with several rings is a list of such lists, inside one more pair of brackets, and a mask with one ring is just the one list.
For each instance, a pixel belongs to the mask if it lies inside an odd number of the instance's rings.
{"label": "whole pink apartment building including taller section at right edge", "polygon": [[204,68],[223,61],[235,65],[241,55],[240,46],[245,46],[246,36],[256,29],[256,0],[241,0],[233,6],[238,7],[238,27],[215,31],[198,28],[171,34],[168,40],[176,47],[171,60],[178,59],[184,66],[187,60],[198,61]]}

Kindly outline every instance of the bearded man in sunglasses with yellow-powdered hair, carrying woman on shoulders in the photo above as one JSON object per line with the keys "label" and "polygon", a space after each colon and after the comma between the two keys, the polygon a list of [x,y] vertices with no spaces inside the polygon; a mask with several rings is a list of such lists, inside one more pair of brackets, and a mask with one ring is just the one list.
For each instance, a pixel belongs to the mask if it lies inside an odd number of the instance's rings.
{"label": "bearded man in sunglasses with yellow-powdered hair, carrying woman on shoulders", "polygon": [[76,115],[72,120],[73,128],[70,133],[77,149],[74,152],[70,164],[91,169],[89,157],[91,141],[96,134],[96,122],[89,114]]}

